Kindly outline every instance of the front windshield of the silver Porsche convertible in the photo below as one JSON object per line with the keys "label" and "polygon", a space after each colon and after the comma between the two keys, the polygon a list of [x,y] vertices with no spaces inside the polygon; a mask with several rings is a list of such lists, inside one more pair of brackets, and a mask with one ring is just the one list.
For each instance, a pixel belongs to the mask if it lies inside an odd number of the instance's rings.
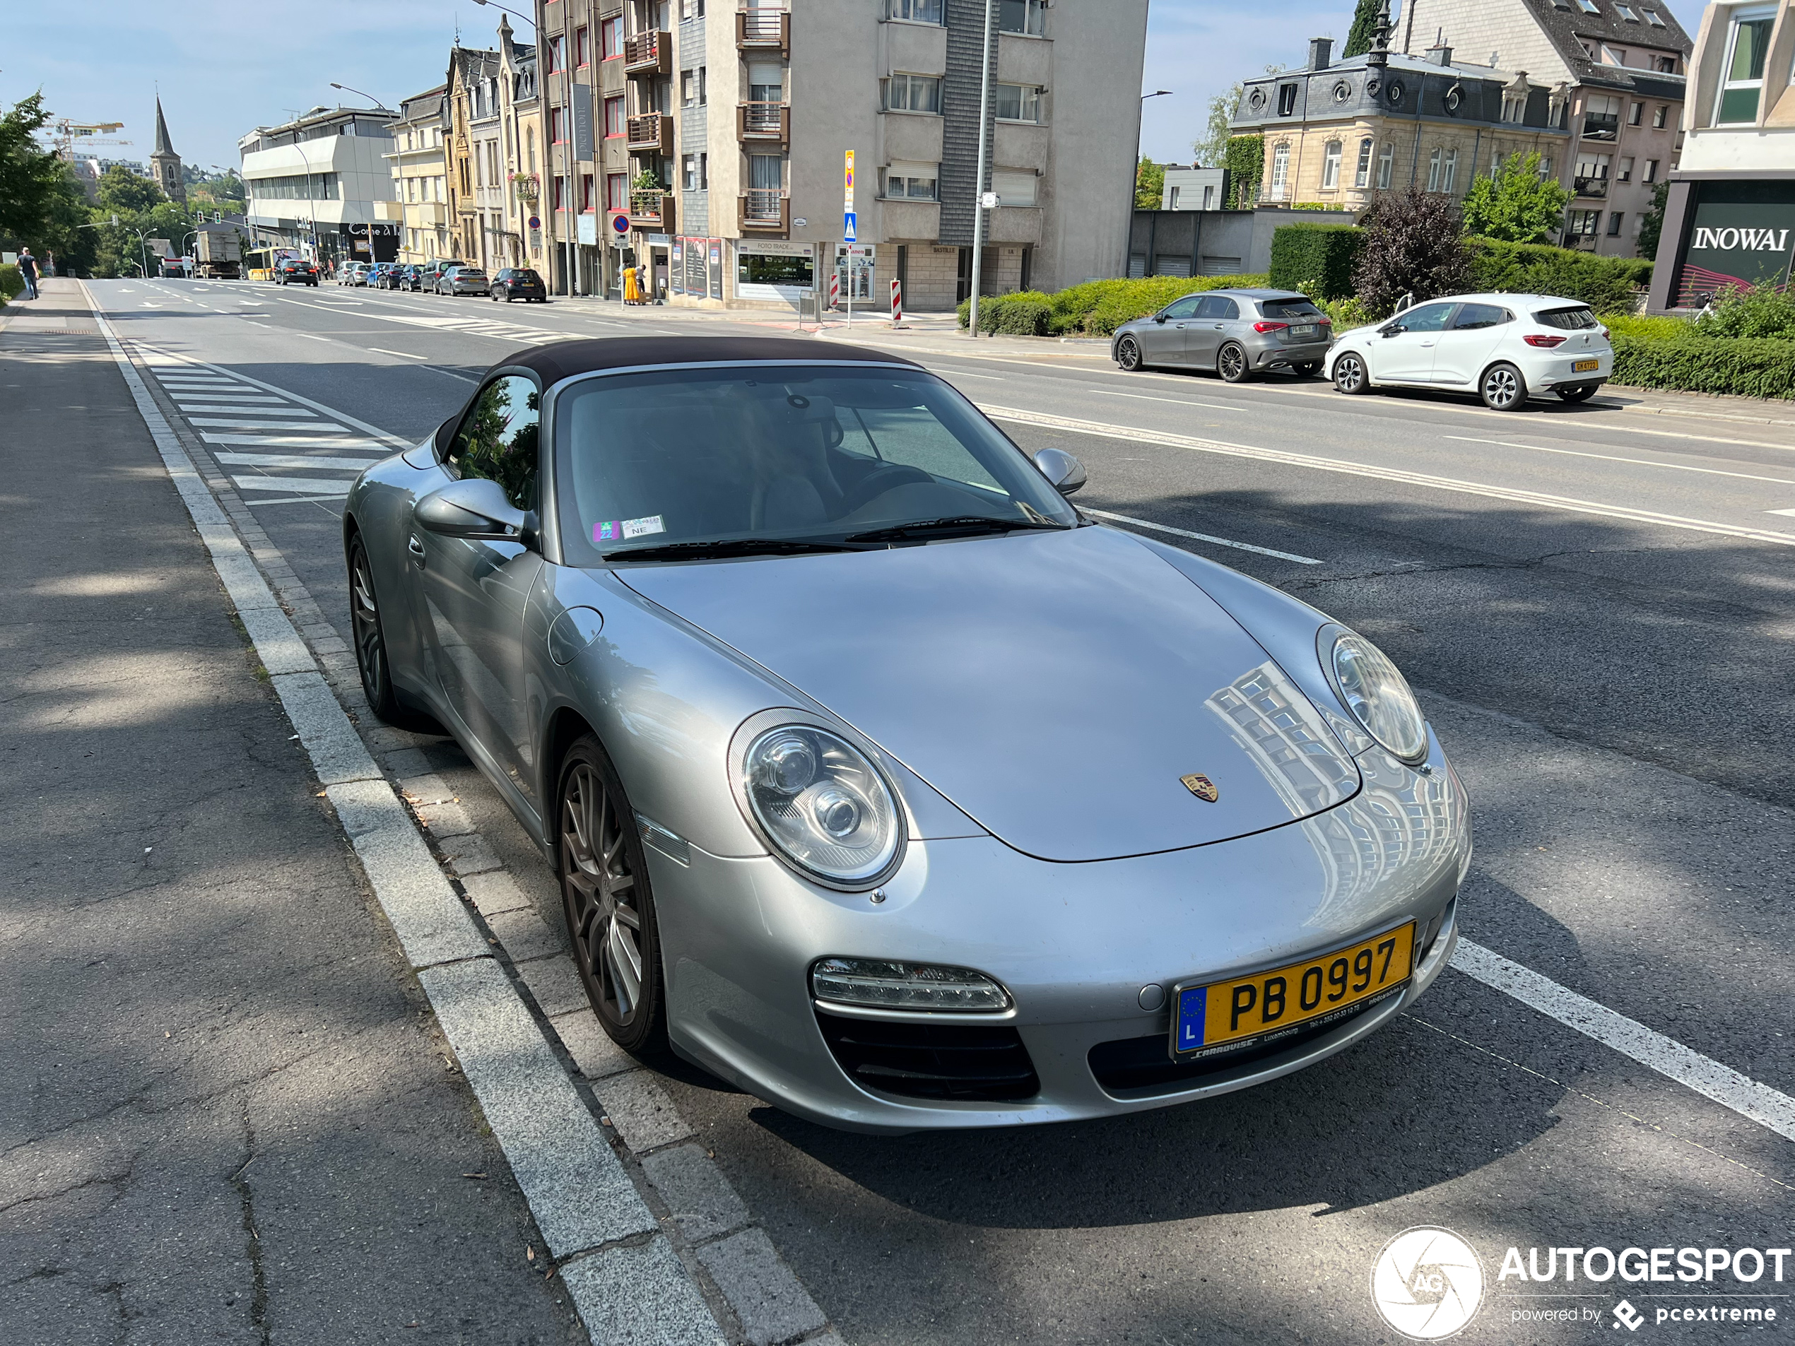
{"label": "front windshield of the silver Porsche convertible", "polygon": [[558,397],[555,443],[562,538],[576,565],[1077,524],[1009,440],[921,370],[587,379]]}

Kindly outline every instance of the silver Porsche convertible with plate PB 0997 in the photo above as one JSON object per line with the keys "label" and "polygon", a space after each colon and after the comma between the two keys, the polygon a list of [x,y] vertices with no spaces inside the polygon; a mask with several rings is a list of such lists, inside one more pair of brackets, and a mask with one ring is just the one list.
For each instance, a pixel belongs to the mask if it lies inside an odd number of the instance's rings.
{"label": "silver Porsche convertible with plate PB 0997", "polygon": [[540,346],[355,483],[363,686],[628,1050],[889,1132],[1258,1084],[1440,975],[1465,793],[1370,641],[1082,483],[894,355]]}

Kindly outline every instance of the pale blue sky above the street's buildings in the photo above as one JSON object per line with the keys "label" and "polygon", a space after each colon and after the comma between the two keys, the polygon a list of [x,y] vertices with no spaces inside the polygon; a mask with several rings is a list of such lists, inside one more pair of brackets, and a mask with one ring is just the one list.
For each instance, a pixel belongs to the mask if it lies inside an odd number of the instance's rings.
{"label": "pale blue sky above the street's buildings", "polygon": [[[802,4],[802,0],[799,0]],[[872,5],[876,0],[865,0]],[[1059,0],[1108,5],[1125,0]],[[711,0],[725,7],[731,0]],[[0,43],[0,104],[43,86],[56,115],[124,122],[135,144],[108,158],[147,158],[156,135],[156,83],[174,147],[188,163],[235,165],[237,136],[294,109],[359,101],[354,84],[388,106],[443,77],[456,22],[468,45],[490,47],[497,11],[472,0],[309,0],[300,11],[241,0],[88,0],[13,5]],[[530,4],[512,9],[530,13]],[[1143,109],[1142,151],[1190,162],[1208,101],[1267,63],[1294,65],[1309,38],[1346,38],[1352,0],[1152,0],[1142,90],[1172,90]],[[1700,0],[1669,9],[1694,29]],[[294,14],[303,14],[294,18]],[[79,16],[79,27],[72,18]],[[528,34],[524,25],[519,31]]]}

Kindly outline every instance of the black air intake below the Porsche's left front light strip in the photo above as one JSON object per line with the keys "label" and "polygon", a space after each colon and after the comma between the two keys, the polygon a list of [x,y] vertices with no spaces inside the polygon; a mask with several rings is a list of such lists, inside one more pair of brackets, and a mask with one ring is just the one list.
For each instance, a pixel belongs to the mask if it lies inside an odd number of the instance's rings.
{"label": "black air intake below the Porsche's left front light strip", "polygon": [[822,1037],[854,1084],[906,1098],[1011,1102],[1041,1080],[1021,1034],[1005,1025],[889,1023],[817,1014]]}

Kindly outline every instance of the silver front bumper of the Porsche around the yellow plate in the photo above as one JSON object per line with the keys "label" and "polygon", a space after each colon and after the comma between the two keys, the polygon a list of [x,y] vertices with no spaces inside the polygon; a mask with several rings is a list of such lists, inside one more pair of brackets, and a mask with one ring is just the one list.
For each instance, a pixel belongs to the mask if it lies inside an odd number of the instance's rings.
{"label": "silver front bumper of the Porsche around the yellow plate", "polygon": [[[784,1111],[871,1132],[1111,1116],[1301,1070],[1411,1005],[1458,937],[1454,897],[1470,863],[1463,786],[1438,743],[1425,772],[1377,748],[1361,768],[1361,793],[1327,813],[1156,856],[1070,865],[987,836],[912,842],[876,905],[811,887],[772,858],[691,847],[680,863],[650,847],[673,1046]],[[1409,985],[1355,1018],[1142,1088],[1102,1070],[1118,1052],[1138,1059],[1143,1039],[1167,1041],[1169,1009],[1142,1009],[1149,985],[1276,967],[1411,919],[1420,957]],[[808,982],[829,955],[975,967],[1011,991],[1014,1009],[829,1009]],[[1005,1098],[863,1088],[831,1050],[840,1018],[1012,1028],[1038,1088]]]}

